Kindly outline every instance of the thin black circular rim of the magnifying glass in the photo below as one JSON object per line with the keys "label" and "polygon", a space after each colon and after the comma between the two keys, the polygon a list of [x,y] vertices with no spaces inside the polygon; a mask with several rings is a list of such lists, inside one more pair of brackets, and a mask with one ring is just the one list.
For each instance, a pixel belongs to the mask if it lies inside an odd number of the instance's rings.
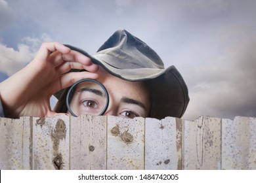
{"label": "thin black circular rim of the magnifying glass", "polygon": [[70,103],[69,103],[70,96],[72,95],[72,97],[73,97],[74,93],[72,92],[72,90],[77,86],[77,84],[80,84],[81,82],[86,82],[86,81],[95,82],[96,84],[100,85],[101,88],[104,90],[104,93],[106,94],[106,105],[105,105],[104,109],[102,110],[102,112],[100,112],[100,114],[98,114],[98,116],[102,116],[108,109],[109,95],[108,95],[108,91],[106,90],[105,86],[101,82],[98,82],[97,80],[94,80],[94,79],[86,78],[86,79],[82,79],[82,80],[75,82],[75,84],[73,84],[70,87],[70,90],[68,90],[68,93],[66,95],[66,107],[68,108],[68,111],[70,112],[70,114],[72,114],[72,116],[78,117],[70,108]]}

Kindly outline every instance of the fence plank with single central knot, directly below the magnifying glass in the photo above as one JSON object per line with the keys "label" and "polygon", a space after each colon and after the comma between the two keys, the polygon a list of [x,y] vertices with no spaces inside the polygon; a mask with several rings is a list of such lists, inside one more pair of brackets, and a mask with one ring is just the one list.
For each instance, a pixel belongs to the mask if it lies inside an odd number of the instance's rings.
{"label": "fence plank with single central knot, directly below the magnifying glass", "polygon": [[70,169],[106,169],[106,116],[70,118]]}

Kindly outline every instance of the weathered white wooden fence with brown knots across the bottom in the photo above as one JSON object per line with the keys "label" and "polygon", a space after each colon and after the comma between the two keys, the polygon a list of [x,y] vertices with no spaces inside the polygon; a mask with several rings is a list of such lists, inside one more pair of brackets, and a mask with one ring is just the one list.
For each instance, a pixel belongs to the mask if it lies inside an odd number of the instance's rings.
{"label": "weathered white wooden fence with brown knots across the bottom", "polygon": [[256,118],[0,118],[0,169],[256,169]]}

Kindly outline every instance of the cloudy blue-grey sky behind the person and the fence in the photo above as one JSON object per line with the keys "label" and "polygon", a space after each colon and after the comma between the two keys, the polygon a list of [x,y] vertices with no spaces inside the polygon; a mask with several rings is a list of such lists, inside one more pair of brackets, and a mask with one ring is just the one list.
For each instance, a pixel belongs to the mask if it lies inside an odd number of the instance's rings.
{"label": "cloudy blue-grey sky behind the person and the fence", "polygon": [[183,76],[182,116],[256,117],[254,0],[0,0],[0,82],[32,61],[42,42],[90,54],[126,29]]}

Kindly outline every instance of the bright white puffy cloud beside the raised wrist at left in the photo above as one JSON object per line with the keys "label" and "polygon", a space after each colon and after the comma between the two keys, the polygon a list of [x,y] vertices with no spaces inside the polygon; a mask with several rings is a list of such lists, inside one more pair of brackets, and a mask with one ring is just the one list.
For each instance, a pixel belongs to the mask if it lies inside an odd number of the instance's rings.
{"label": "bright white puffy cloud beside the raised wrist at left", "polygon": [[0,44],[0,72],[8,76],[13,75],[34,58],[42,42],[51,41],[46,34],[39,38],[24,37],[18,44],[17,50]]}

